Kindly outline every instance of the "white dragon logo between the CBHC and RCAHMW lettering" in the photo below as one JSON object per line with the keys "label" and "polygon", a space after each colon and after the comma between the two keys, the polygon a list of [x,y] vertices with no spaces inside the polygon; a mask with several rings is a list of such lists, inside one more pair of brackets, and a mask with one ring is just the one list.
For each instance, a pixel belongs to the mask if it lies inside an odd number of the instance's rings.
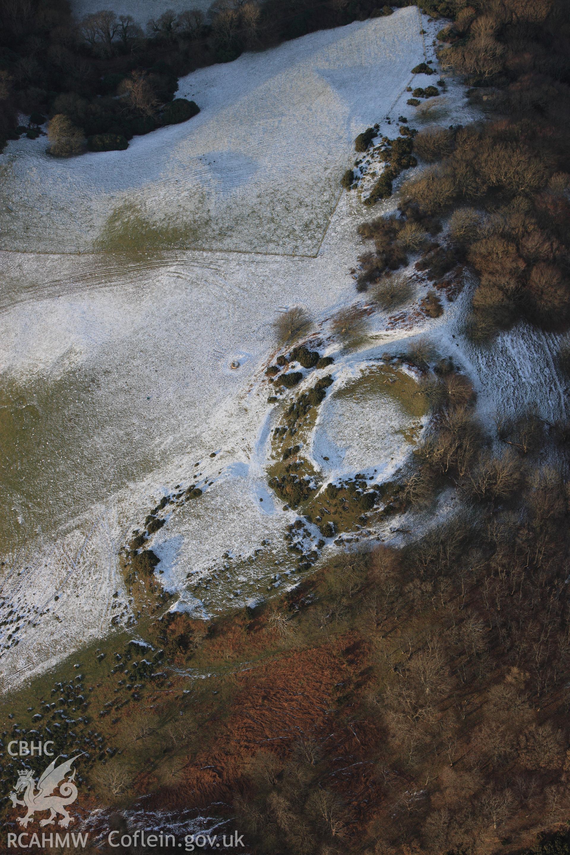
{"label": "white dragon logo between the CBHC and RCAHMW lettering", "polygon": [[[83,753],[83,752],[81,752]],[[69,823],[73,823],[73,817],[70,817],[66,811],[66,805],[71,805],[77,799],[77,787],[73,783],[75,780],[75,769],[72,775],[65,780],[75,760],[81,756],[76,754],[71,760],[66,760],[65,763],[56,766],[57,761],[62,755],[60,754],[53,760],[43,775],[38,779],[38,791],[36,792],[36,782],[33,778],[32,769],[22,769],[18,775],[15,789],[9,793],[9,799],[12,800],[12,805],[22,805],[27,808],[25,817],[17,817],[18,823],[24,828],[28,823],[33,822],[35,811],[50,811],[50,816],[47,819],[40,820],[40,825],[51,825],[55,822],[55,817],[58,813],[62,814],[62,819],[59,822],[63,828],[67,828]],[[59,787],[60,795],[54,795],[54,790]],[[21,801],[16,798],[16,793],[21,793],[24,790],[24,799]]]}

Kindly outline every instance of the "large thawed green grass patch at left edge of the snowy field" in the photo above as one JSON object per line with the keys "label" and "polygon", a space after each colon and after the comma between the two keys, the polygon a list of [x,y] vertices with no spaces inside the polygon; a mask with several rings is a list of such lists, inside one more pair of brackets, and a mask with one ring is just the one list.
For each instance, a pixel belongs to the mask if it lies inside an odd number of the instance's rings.
{"label": "large thawed green grass patch at left edge of the snowy field", "polygon": [[[0,544],[3,551],[50,533],[87,510],[93,494],[109,492],[156,462],[135,441],[127,399],[109,411],[94,374],[69,369],[61,377],[21,381],[0,377]],[[101,456],[99,437],[116,420],[121,431]],[[141,453],[142,451],[142,453]],[[21,520],[18,519],[21,517]]]}

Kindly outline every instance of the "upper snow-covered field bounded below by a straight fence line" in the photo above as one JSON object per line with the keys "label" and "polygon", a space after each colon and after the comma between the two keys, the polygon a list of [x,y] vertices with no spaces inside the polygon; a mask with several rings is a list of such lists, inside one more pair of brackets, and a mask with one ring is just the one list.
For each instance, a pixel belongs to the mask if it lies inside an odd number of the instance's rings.
{"label": "upper snow-covered field bounded below by a straight fence line", "polygon": [[357,133],[389,111],[422,59],[410,6],[189,74],[177,94],[202,112],[126,151],[56,161],[44,137],[11,142],[1,245],[313,255]]}

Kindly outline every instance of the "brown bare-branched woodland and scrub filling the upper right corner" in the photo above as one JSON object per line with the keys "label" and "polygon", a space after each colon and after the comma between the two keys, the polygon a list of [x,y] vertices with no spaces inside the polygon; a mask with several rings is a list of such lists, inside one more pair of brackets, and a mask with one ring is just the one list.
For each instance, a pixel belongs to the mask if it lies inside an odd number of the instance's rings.
{"label": "brown bare-branched woodland and scrub filling the upper right corner", "polygon": [[[488,339],[521,319],[544,329],[565,328],[570,321],[567,15],[555,0],[532,7],[518,0],[444,7],[430,9],[455,17],[438,35],[439,62],[463,75],[467,97],[485,109],[489,121],[432,125],[391,142],[392,152],[396,142],[410,144],[426,168],[404,182],[399,215],[361,226],[361,236],[374,241],[376,252],[361,258],[358,288],[365,290],[386,269],[407,263],[404,228],[423,229],[435,238],[450,218],[449,234],[425,247],[416,268],[436,287],[455,268],[473,270],[479,282],[467,319],[473,339]],[[412,94],[416,99],[437,94],[433,88]],[[367,203],[391,195],[393,154],[385,159],[390,162]],[[428,295],[425,308],[437,316],[435,294]]]}

